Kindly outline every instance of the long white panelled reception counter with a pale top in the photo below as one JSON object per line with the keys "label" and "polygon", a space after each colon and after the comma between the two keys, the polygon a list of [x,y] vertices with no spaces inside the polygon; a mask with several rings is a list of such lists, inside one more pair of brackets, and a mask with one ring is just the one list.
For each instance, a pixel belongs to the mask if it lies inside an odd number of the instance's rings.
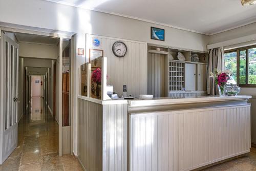
{"label": "long white panelled reception counter with a pale top", "polygon": [[193,170],[249,153],[251,96],[78,97],[86,170]]}

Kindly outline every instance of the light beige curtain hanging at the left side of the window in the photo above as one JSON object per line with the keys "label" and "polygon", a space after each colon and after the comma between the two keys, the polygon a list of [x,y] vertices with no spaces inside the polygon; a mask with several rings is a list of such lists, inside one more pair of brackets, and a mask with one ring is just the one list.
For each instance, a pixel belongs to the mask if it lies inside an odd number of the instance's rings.
{"label": "light beige curtain hanging at the left side of the window", "polygon": [[217,95],[218,88],[215,84],[214,79],[210,78],[210,72],[215,73],[217,70],[225,70],[224,62],[224,48],[210,49],[208,59],[208,70],[207,70],[207,93],[208,95]]}

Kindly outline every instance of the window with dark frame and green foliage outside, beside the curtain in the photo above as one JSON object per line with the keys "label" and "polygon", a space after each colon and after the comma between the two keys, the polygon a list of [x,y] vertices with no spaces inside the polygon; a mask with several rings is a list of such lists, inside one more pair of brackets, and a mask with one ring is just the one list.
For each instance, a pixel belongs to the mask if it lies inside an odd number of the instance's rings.
{"label": "window with dark frame and green foliage outside, beside the curtain", "polygon": [[[241,87],[256,87],[256,47],[225,51],[225,69]],[[239,71],[237,71],[239,70]]]}

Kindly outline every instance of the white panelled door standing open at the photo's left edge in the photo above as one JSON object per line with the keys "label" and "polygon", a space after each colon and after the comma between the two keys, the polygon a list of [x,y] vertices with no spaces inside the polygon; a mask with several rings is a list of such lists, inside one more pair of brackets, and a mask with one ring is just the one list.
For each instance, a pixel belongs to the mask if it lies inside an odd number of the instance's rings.
{"label": "white panelled door standing open at the photo's left edge", "polygon": [[18,44],[1,33],[0,55],[0,164],[17,147]]}

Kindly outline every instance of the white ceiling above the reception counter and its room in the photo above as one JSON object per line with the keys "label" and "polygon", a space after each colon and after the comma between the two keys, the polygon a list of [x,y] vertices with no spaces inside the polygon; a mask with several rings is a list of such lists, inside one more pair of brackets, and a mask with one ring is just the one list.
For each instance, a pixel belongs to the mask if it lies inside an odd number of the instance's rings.
{"label": "white ceiling above the reception counter and its room", "polygon": [[207,35],[256,22],[241,0],[47,0]]}

